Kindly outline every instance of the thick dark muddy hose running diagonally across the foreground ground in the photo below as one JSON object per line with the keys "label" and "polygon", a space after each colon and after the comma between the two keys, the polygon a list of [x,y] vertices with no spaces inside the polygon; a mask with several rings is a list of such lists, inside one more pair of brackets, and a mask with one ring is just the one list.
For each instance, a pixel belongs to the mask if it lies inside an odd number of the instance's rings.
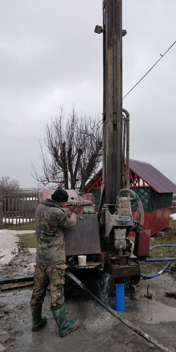
{"label": "thick dark muddy hose running diagonally across the foreground ground", "polygon": [[151,336],[146,334],[143,330],[141,330],[140,328],[136,328],[130,321],[122,318],[122,316],[118,314],[114,309],[110,308],[109,306],[107,306],[107,304],[100,301],[99,298],[96,297],[76,276],[71,274],[70,271],[66,271],[65,274],[67,274],[71,279],[73,279],[78,285],[80,285],[81,288],[83,288],[84,291],[86,291],[90,296],[92,296],[94,300],[96,300],[103,308],[105,308],[109,313],[114,315],[115,318],[119,319],[123,324],[125,324],[132,331],[142,336],[145,340],[151,342],[151,344],[155,345],[157,348],[159,348],[159,350],[163,352],[171,352],[169,348],[159,344],[156,340],[154,340]]}

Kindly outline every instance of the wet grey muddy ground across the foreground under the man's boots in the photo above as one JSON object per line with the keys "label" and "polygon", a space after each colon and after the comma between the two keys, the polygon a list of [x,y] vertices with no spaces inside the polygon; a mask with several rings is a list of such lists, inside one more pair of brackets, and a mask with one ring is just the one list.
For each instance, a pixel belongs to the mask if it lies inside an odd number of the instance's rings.
{"label": "wet grey muddy ground across the foreground under the man's boots", "polygon": [[[152,299],[146,298],[147,285]],[[114,308],[109,277],[87,280],[92,290]],[[104,289],[103,289],[104,288]],[[176,350],[176,299],[165,297],[176,292],[176,282],[169,274],[151,280],[141,280],[136,293],[126,295],[124,318],[142,328],[172,351]],[[31,331],[30,297],[32,289],[0,293],[0,351],[26,352],[149,352],[158,351],[143,338],[126,328],[73,282],[67,282],[65,306],[68,319],[78,317],[80,327],[67,337],[60,338],[50,312],[50,294],[47,290],[43,315],[48,322],[38,332]]]}

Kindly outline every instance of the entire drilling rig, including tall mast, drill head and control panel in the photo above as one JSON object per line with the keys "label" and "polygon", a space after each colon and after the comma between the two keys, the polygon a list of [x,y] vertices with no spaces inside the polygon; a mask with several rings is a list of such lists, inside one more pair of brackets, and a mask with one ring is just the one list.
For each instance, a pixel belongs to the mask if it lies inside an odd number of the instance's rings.
{"label": "entire drilling rig, including tall mast, drill head and control panel", "polygon": [[[67,207],[77,214],[74,229],[66,230],[66,263],[77,270],[78,255],[86,255],[84,268],[108,272],[116,282],[140,280],[139,260],[150,251],[150,232],[142,230],[144,211],[139,196],[130,189],[129,120],[122,109],[122,0],[103,0],[103,183],[98,215],[90,195],[77,195],[68,190]],[[126,180],[125,180],[126,140]],[[52,192],[51,192],[52,193]],[[40,195],[39,195],[40,198]],[[40,199],[39,199],[40,200]],[[137,202],[134,218],[131,202]],[[136,232],[134,251],[127,238]],[[93,275],[93,274],[92,274]]]}

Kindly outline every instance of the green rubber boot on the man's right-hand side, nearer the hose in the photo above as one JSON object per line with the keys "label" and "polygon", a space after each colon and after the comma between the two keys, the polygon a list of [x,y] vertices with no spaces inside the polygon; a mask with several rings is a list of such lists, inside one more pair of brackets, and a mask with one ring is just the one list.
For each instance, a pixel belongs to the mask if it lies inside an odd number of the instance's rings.
{"label": "green rubber boot on the man's right-hand side, nearer the hose", "polygon": [[66,336],[70,331],[74,331],[80,325],[78,319],[73,319],[71,321],[67,320],[65,306],[57,309],[51,309],[51,312],[56,320],[57,326],[59,328],[59,335],[61,337]]}

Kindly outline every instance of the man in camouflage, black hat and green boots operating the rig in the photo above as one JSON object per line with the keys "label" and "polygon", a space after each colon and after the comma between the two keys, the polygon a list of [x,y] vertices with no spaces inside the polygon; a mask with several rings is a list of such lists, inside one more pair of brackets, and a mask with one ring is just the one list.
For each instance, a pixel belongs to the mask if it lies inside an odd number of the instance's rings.
{"label": "man in camouflage, black hat and green boots operating the rig", "polygon": [[74,228],[76,214],[68,217],[66,202],[68,193],[57,189],[51,199],[45,201],[36,210],[36,271],[34,289],[30,301],[32,312],[32,331],[37,331],[46,324],[46,317],[42,317],[42,303],[46,296],[46,289],[51,285],[51,312],[56,320],[59,335],[64,337],[79,326],[78,319],[68,321],[65,314],[64,274],[65,243],[64,228]]}

